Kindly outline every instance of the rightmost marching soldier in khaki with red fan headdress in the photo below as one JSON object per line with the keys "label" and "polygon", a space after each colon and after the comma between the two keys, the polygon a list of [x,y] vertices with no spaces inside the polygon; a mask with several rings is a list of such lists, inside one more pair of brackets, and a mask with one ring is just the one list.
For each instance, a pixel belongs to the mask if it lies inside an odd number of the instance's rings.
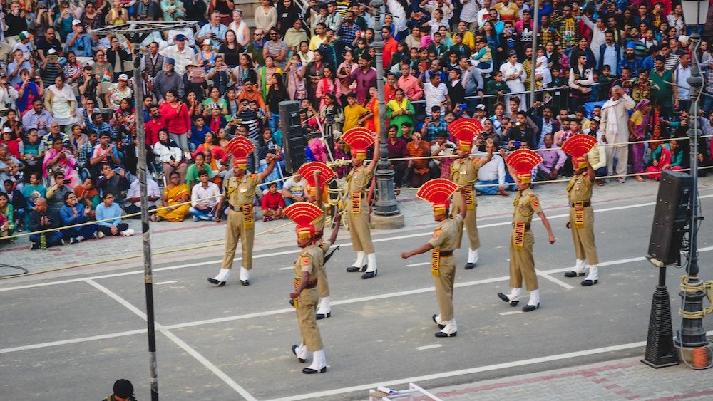
{"label": "rightmost marching soldier in khaki with red fan headdress", "polygon": [[587,160],[587,153],[595,146],[597,146],[595,138],[588,135],[575,135],[570,137],[562,147],[562,150],[572,155],[575,173],[567,184],[567,197],[570,202],[570,221],[567,223],[567,228],[572,230],[572,240],[577,255],[575,269],[565,272],[565,277],[584,276],[585,269],[589,269],[588,276],[581,283],[584,287],[599,283],[597,269],[599,258],[594,240],[594,210],[592,209],[595,172]]}

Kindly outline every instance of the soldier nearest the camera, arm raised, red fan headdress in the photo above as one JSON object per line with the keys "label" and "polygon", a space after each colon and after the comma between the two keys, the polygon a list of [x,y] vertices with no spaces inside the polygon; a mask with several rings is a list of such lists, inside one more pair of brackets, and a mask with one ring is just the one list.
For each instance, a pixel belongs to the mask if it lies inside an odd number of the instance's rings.
{"label": "soldier nearest the camera, arm raised, red fan headdress", "polygon": [[[322,336],[319,335],[315,318],[319,302],[317,283],[319,274],[324,269],[324,254],[337,240],[339,224],[334,227],[329,241],[322,241],[317,245],[312,222],[322,214],[322,209],[308,202],[297,202],[284,209],[284,214],[297,223],[297,246],[302,248],[302,253],[294,261],[294,291],[289,294],[297,310],[302,343],[292,345],[292,353],[297,356],[299,362],[305,362],[307,354],[312,353],[312,365],[302,369],[302,373],[324,373],[327,372],[327,357],[324,355]],[[339,223],[339,215],[334,219]]]}

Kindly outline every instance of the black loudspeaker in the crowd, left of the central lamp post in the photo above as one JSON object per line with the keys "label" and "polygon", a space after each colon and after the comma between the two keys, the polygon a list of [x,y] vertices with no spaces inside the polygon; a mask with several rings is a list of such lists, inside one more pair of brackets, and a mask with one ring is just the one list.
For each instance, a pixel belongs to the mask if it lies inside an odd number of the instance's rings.
{"label": "black loudspeaker in the crowd, left of the central lamp post", "polygon": [[304,147],[307,145],[299,116],[299,102],[287,100],[279,103],[279,126],[282,130],[284,170],[294,174],[304,164]]}

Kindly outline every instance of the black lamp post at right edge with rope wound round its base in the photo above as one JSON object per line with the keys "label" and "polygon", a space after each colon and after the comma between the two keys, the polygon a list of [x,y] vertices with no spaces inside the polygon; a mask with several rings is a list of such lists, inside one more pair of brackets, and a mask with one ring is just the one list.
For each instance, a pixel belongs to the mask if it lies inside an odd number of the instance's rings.
{"label": "black lamp post at right edge with rope wound round its base", "polygon": [[698,278],[698,246],[697,231],[702,217],[698,215],[698,139],[701,130],[698,128],[698,100],[703,86],[703,77],[696,54],[701,41],[698,33],[699,26],[706,22],[709,0],[682,0],[683,19],[687,26],[693,28],[690,40],[693,41],[693,63],[691,76],[687,79],[690,85],[691,108],[689,110],[689,130],[687,135],[691,149],[691,176],[693,177],[693,193],[691,197],[691,218],[689,222],[689,253],[686,266],[687,277],[684,279],[684,288],[679,295],[683,298],[682,325],[677,331],[675,345],[682,348],[684,358],[687,353],[685,348],[699,348],[707,345],[706,330],[703,328],[703,298],[701,281]]}

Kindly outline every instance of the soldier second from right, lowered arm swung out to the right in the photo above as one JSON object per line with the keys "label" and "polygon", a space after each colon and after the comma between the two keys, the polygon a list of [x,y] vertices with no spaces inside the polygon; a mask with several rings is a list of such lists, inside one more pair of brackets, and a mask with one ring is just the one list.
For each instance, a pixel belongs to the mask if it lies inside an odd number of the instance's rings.
{"label": "soldier second from right, lowered arm swung out to the right", "polygon": [[[504,156],[505,152],[501,151]],[[535,214],[540,217],[542,224],[547,230],[550,244],[555,243],[555,235],[550,228],[550,222],[545,216],[545,212],[540,207],[535,192],[530,189],[532,171],[542,162],[542,157],[529,149],[515,150],[506,160],[508,170],[518,185],[518,194],[515,195],[513,206],[513,234],[510,239],[510,295],[498,293],[498,297],[510,303],[511,306],[518,305],[518,298],[522,296],[523,280],[528,291],[530,300],[523,306],[523,312],[534,311],[540,307],[540,290],[538,287],[537,275],[535,274],[535,258],[533,256],[533,244],[535,236],[530,230],[530,223]]]}

